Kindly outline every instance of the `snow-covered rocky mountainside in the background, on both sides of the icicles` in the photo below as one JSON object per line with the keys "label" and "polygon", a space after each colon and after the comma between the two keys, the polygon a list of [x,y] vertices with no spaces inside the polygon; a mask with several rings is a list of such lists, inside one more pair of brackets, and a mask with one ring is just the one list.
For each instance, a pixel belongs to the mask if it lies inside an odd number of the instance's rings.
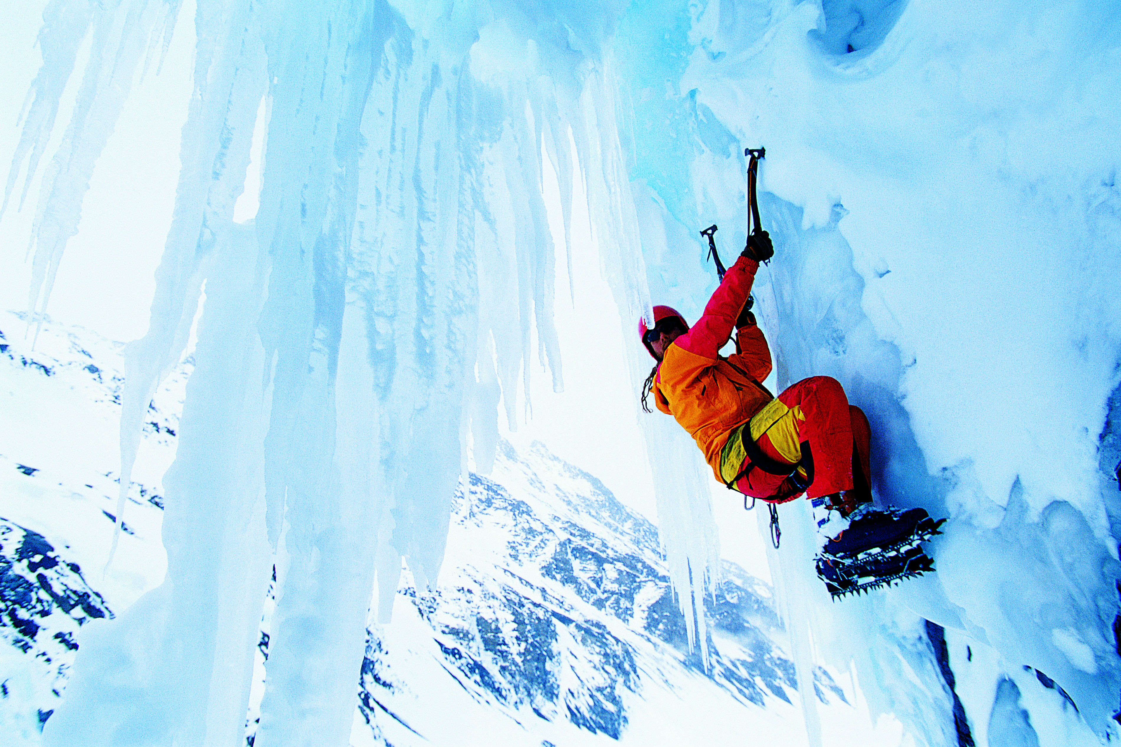
{"label": "snow-covered rocky mountainside in the background, on both sides of the icicles", "polygon": [[[36,744],[65,698],[85,626],[161,581],[159,470],[174,456],[192,364],[149,409],[140,482],[103,572],[120,346],[49,320],[28,328],[12,314],[0,317],[0,725]],[[469,474],[456,493],[435,588],[417,589],[406,573],[393,622],[371,625],[352,744],[798,735],[794,665],[770,589],[732,563],[723,570],[706,609],[705,672],[689,653],[655,527],[544,445],[518,454],[503,443],[491,475]],[[258,685],[271,609],[261,601]],[[854,693],[825,670],[814,688],[841,722],[860,721]],[[257,687],[250,744],[260,695]]]}

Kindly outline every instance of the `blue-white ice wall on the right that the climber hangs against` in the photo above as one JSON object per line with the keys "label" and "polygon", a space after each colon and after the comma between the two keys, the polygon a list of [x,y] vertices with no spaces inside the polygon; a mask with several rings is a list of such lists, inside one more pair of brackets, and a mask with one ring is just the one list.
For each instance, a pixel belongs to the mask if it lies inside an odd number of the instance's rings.
{"label": "blue-white ice wall on the right that the climber hangs against", "polygon": [[[810,553],[780,512],[799,655],[851,666],[917,743],[953,744],[926,618],[991,652],[964,702],[978,732],[1115,731],[1115,7],[651,0],[615,47],[656,302],[695,318],[714,283],[695,231],[744,225],[742,149],[766,146],[777,251],[757,312],[777,384],[841,380],[872,421],[879,499],[949,517],[935,577],[832,605],[790,582]],[[1054,707],[1017,700],[1003,682],[1025,667],[1077,712],[1038,682]]]}

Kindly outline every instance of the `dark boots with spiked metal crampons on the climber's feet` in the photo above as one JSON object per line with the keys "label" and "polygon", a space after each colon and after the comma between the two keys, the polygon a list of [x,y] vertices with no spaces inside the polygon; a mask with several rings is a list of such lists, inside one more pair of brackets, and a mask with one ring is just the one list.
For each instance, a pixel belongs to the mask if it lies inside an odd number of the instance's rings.
{"label": "dark boots with spiked metal crampons on the climber's feet", "polygon": [[934,570],[921,543],[942,533],[945,519],[934,521],[921,508],[912,508],[873,512],[860,521],[865,525],[852,526],[856,538],[831,541],[817,557],[817,576],[834,600]]}

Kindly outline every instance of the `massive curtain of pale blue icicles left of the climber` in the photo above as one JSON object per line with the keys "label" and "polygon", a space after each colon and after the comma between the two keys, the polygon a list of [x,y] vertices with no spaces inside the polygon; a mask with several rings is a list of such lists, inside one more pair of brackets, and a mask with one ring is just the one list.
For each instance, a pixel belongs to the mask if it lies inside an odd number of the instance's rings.
{"label": "massive curtain of pale blue icicles left of the climber", "polygon": [[[106,7],[102,22],[119,28],[129,12]],[[205,283],[189,432],[167,480],[168,575],[83,638],[48,744],[238,740],[274,563],[256,744],[345,744],[374,578],[382,616],[402,559],[418,582],[435,578],[469,421],[485,464],[500,396],[518,419],[535,337],[563,385],[541,152],[576,158],[567,133],[586,128],[586,59],[610,19],[558,17],[535,41],[540,19],[511,30],[470,3],[198,2],[183,171],[149,332],[127,351],[121,429],[123,496],[147,400],[182,353]],[[152,12],[129,28],[126,62],[139,59],[130,39],[166,39],[172,20]],[[481,27],[503,45],[478,46]],[[586,57],[571,54],[573,28]],[[75,32],[44,34],[65,53]],[[124,93],[98,87],[113,54],[99,45],[83,95],[113,113]],[[518,53],[497,69],[489,53],[511,48],[549,59],[527,68]],[[550,80],[555,60],[564,69]],[[61,90],[62,67],[45,72],[44,91]],[[262,95],[260,207],[238,226]],[[41,127],[48,119],[36,110]],[[110,119],[77,150],[93,153]],[[602,194],[624,176],[617,147],[611,159]],[[75,174],[50,184],[84,188]],[[59,220],[76,225],[81,189],[67,194],[45,193],[41,209],[66,208]],[[44,256],[57,265],[57,253]]]}

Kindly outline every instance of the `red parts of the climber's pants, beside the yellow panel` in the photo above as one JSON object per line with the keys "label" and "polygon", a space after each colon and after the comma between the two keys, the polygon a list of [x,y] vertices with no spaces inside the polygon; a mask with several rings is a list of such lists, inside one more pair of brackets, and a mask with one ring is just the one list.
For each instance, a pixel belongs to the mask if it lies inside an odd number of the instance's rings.
{"label": "red parts of the climber's pants, beside the yellow panel", "polygon": [[[805,415],[805,420],[795,419],[795,422],[802,445],[802,464],[809,466],[813,479],[807,497],[855,488],[862,501],[870,501],[872,431],[864,412],[849,404],[841,383],[830,376],[812,376],[789,386],[778,399],[790,409],[798,407]],[[767,433],[759,437],[758,443],[767,456],[789,464],[771,445]],[[767,498],[778,492],[782,479],[781,475],[757,468],[742,477],[736,487],[747,495]]]}

